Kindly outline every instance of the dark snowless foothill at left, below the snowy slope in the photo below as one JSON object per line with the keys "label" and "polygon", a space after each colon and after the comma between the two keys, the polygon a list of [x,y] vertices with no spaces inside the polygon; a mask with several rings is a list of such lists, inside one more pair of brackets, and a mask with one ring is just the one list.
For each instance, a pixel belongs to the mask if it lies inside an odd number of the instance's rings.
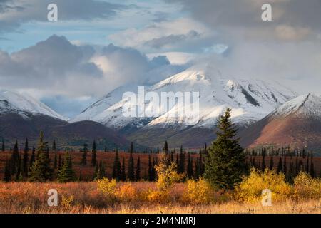
{"label": "dark snowless foothill at left, below the snowy slope", "polygon": [[131,144],[114,130],[93,121],[68,123],[49,115],[31,115],[29,118],[18,113],[0,115],[0,138],[3,137],[8,146],[16,140],[22,144],[26,138],[30,145],[36,145],[40,131],[44,132],[46,141],[55,139],[59,147],[82,147],[84,143],[91,145],[96,140],[99,149],[118,147],[125,150]]}

